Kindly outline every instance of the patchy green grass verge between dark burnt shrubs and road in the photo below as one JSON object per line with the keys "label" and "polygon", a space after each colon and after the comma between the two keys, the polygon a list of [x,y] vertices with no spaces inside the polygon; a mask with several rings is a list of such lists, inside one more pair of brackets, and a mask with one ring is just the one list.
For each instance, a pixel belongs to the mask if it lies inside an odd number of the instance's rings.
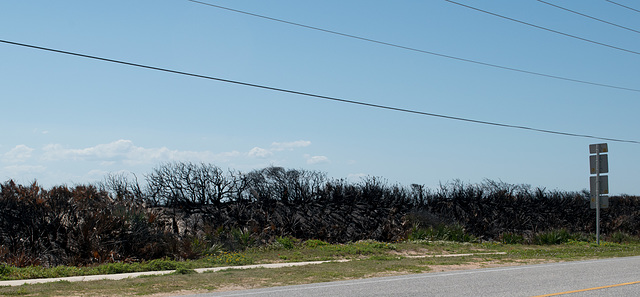
{"label": "patchy green grass verge between dark burnt shrubs and road", "polygon": [[[503,252],[504,254],[495,254]],[[463,257],[433,257],[443,254],[475,254]],[[489,254],[494,253],[494,254]],[[244,253],[209,255],[198,261],[176,262],[155,260],[137,264],[108,264],[92,268],[56,267],[52,269],[24,268],[11,272],[5,278],[27,275],[27,270],[41,271],[33,275],[65,276],[90,273],[127,272],[178,269],[188,272],[192,268],[244,265],[249,263],[297,262],[314,260],[349,259],[303,267],[279,269],[225,270],[202,274],[173,274],[149,276],[120,281],[57,282],[19,287],[0,287],[3,296],[133,296],[153,294],[187,294],[221,290],[258,288],[366,278],[385,275],[422,273],[455,269],[470,269],[528,263],[571,261],[605,257],[640,255],[640,244],[604,243],[600,246],[587,242],[570,241],[561,245],[507,245],[500,243],[455,243],[409,241],[380,243],[362,241],[345,245],[329,245],[319,241],[296,242],[254,248]]]}

